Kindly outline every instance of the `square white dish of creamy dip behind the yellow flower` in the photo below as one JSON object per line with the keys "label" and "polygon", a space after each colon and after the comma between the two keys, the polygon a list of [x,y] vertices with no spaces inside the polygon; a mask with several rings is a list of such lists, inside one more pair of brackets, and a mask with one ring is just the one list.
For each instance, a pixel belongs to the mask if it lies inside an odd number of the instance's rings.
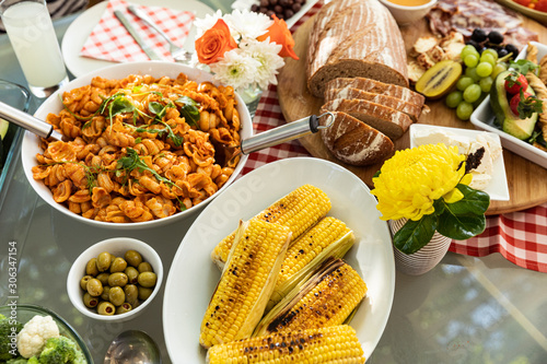
{"label": "square white dish of creamy dip behind the yellow flower", "polygon": [[[415,142],[415,136],[420,130],[442,130],[452,134],[464,136],[468,138],[476,138],[478,134],[485,132],[482,130],[438,127],[426,124],[412,124],[410,126],[410,148],[418,146],[418,144],[416,144]],[[490,132],[489,134],[498,142],[500,142],[500,136],[498,133]],[[496,161],[493,161],[492,180],[487,186],[487,188],[485,188],[485,192],[490,196],[490,200],[509,201],[509,186],[505,175],[505,164],[503,163],[503,153],[501,153],[500,156]]]}

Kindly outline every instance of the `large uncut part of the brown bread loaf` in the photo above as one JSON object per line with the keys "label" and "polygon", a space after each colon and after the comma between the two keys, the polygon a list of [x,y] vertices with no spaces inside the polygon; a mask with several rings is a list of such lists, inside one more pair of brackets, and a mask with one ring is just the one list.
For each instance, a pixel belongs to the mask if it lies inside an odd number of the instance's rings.
{"label": "large uncut part of the brown bread loaf", "polygon": [[403,36],[377,0],[336,0],[315,16],[307,47],[307,87],[322,97],[328,81],[365,77],[408,86]]}

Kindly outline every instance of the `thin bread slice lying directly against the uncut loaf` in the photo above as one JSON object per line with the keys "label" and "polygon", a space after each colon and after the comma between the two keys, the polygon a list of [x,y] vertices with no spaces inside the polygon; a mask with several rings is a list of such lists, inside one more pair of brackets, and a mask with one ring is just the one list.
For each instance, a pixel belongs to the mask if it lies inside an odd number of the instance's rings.
{"label": "thin bread slice lying directly against the uncut loaf", "polygon": [[[406,103],[422,107],[426,97],[422,94],[411,91],[408,87],[401,87],[394,84],[380,82],[366,78],[338,78],[327,83],[325,92],[330,89],[358,89],[374,94],[388,95],[399,98]],[[325,96],[326,97],[326,96]]]}

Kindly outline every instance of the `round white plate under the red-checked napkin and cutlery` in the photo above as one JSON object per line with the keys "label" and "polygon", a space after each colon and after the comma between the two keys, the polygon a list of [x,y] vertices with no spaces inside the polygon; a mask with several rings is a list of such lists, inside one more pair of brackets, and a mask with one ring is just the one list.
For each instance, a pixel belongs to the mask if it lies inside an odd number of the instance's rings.
{"label": "round white plate under the red-checked napkin and cutlery", "polygon": [[[153,3],[147,0],[130,0],[130,2],[139,5],[153,4],[154,7],[171,8],[174,10],[194,11],[197,17],[203,17],[206,14],[213,13],[211,8],[196,0],[156,0],[153,1]],[[77,78],[103,67],[116,64],[115,62],[80,56],[80,50],[82,49],[83,44],[101,20],[101,16],[103,16],[106,5],[107,1],[103,1],[85,10],[72,22],[72,24],[70,24],[65,37],[62,38],[61,49],[65,64],[70,73]],[[195,32],[196,31],[193,28],[190,34],[188,34],[188,37],[194,38]]]}

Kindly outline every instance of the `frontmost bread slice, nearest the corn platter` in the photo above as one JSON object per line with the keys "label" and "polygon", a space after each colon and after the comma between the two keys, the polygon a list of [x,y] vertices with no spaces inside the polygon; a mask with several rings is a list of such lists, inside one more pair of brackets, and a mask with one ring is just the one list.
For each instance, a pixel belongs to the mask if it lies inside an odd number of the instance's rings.
{"label": "frontmost bread slice, nearest the corn platter", "polygon": [[334,111],[335,121],[321,130],[327,149],[341,162],[363,166],[391,157],[395,148],[389,138],[354,117]]}

